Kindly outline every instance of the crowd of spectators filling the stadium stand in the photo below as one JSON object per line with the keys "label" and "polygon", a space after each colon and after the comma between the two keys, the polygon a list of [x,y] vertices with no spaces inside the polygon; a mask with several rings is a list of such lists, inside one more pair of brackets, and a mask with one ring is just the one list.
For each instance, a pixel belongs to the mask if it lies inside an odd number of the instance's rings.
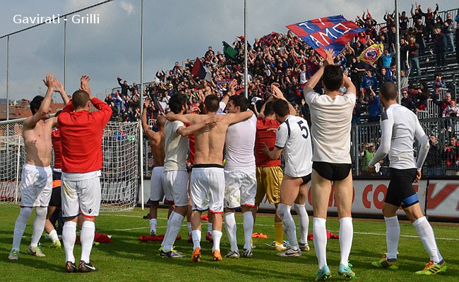
{"label": "crowd of spectators filling the stadium stand", "polygon": [[[440,90],[446,86],[441,79],[441,73],[435,75],[433,89],[429,89],[425,83],[410,84],[408,80],[412,75],[422,74],[419,56],[427,51],[428,42],[433,42],[438,66],[444,64],[444,60],[439,58],[441,54],[457,48],[453,42],[453,30],[459,16],[453,20],[450,13],[443,21],[438,17],[438,11],[438,4],[434,10],[427,8],[427,12],[415,4],[410,10],[411,17],[405,11],[400,14],[402,104],[414,112],[425,111],[427,100],[432,99],[439,106],[441,116],[454,116],[458,114],[458,108],[451,100],[451,94],[439,99]],[[342,66],[357,87],[353,123],[378,122],[382,111],[378,87],[383,82],[395,83],[396,80],[395,12],[386,11],[383,20],[383,23],[378,24],[368,10],[361,17],[357,16],[355,22],[366,30],[354,37],[335,57],[335,63]],[[290,31],[286,34],[272,32],[268,38],[256,38],[249,43],[247,90],[254,111],[259,110],[266,102],[270,96],[269,86],[277,82],[285,97],[294,104],[298,115],[309,121],[309,109],[304,102],[302,87],[321,64],[321,57]],[[376,43],[383,44],[380,59],[373,66],[360,61],[359,55],[362,51]],[[228,84],[232,80],[237,81],[236,93],[244,92],[244,37],[236,37],[229,46],[234,49],[234,54],[214,51],[213,47],[208,47],[204,56],[199,59],[211,74],[207,80],[192,75],[195,63],[193,59],[182,64],[176,62],[170,71],[158,70],[155,80],[145,87],[143,93],[152,100],[148,106],[149,118],[164,113],[169,97],[174,94],[185,94],[189,99],[189,108],[198,112],[205,96],[215,94],[222,97],[227,94]],[[121,78],[118,78],[118,82],[121,92],[109,94],[106,98],[106,102],[114,109],[112,119],[138,121],[141,114],[138,85],[135,82],[132,85],[126,81],[121,83]]]}

